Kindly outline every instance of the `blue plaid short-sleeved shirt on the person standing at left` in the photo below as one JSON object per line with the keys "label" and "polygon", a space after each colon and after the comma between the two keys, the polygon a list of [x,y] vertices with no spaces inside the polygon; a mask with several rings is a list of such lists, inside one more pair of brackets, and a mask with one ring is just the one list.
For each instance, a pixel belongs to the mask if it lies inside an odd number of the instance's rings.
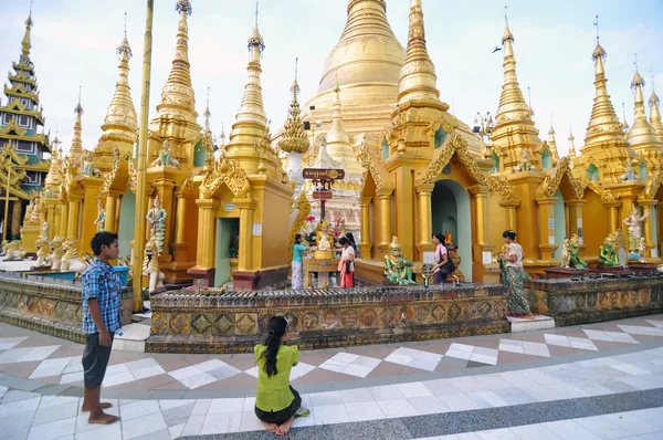
{"label": "blue plaid short-sleeved shirt on the person standing at left", "polygon": [[83,333],[90,335],[99,332],[87,305],[87,300],[93,297],[99,303],[106,329],[113,333],[122,327],[120,291],[119,275],[109,264],[94,259],[83,274]]}

